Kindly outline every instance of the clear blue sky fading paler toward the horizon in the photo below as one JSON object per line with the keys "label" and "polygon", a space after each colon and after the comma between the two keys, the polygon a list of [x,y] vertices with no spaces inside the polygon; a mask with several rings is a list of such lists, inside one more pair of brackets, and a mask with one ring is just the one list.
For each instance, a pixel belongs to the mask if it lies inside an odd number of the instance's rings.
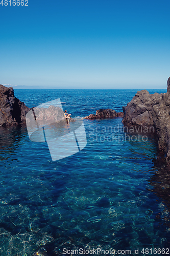
{"label": "clear blue sky fading paler toward the horizon", "polygon": [[28,1],[0,5],[1,84],[166,89],[169,0]]}

